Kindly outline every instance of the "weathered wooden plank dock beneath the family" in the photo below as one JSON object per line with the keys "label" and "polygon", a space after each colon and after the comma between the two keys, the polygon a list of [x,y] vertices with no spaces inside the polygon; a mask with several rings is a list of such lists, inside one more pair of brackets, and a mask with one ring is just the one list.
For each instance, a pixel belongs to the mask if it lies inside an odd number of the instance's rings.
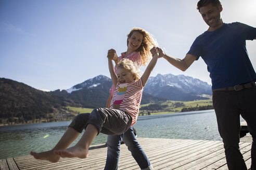
{"label": "weathered wooden plank dock beneath the family", "polygon": [[[154,169],[227,169],[222,141],[137,138]],[[251,136],[240,140],[246,165],[251,164]],[[35,160],[31,155],[0,160],[0,169],[104,169],[106,145],[95,145],[89,157],[62,158],[58,163]],[[140,169],[130,151],[123,144],[118,169]]]}

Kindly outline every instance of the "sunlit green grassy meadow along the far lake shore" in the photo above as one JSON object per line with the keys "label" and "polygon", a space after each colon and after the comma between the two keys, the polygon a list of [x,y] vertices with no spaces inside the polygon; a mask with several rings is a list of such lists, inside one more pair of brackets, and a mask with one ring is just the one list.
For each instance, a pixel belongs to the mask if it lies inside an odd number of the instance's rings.
{"label": "sunlit green grassy meadow along the far lake shore", "polygon": [[[140,107],[143,106],[149,106],[150,104],[154,103],[149,103],[149,104],[144,104],[140,105]],[[154,110],[150,111],[150,115],[157,115],[157,114],[169,114],[172,112],[181,112],[182,108],[184,107],[197,107],[197,106],[207,106],[207,105],[212,105],[212,100],[198,100],[198,101],[167,101],[164,103],[158,103],[159,105],[167,105],[164,110]],[[82,113],[91,113],[92,108],[82,108],[82,107],[67,107],[68,109],[77,112],[79,114]],[[148,112],[147,110],[140,110],[139,115],[143,115],[143,112],[146,113]]]}

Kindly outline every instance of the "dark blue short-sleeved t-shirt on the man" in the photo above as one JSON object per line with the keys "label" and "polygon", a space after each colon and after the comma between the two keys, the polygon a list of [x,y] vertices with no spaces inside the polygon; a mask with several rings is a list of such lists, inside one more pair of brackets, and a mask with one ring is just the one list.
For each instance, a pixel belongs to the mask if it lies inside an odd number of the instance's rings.
{"label": "dark blue short-sleeved t-shirt on the man", "polygon": [[[212,90],[256,81],[246,40],[256,37],[256,28],[239,22],[224,23],[213,32],[199,35],[188,54],[201,56],[212,79]],[[255,57],[255,56],[254,56]]]}

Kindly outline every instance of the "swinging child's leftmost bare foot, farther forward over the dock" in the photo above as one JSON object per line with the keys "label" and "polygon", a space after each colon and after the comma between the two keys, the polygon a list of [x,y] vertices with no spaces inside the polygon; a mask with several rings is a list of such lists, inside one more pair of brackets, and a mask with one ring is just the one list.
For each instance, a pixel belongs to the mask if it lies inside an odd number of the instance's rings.
{"label": "swinging child's leftmost bare foot, farther forward over the dock", "polygon": [[40,152],[40,153],[36,153],[36,152],[30,152],[30,154],[35,158],[35,159],[39,159],[39,160],[47,160],[50,162],[59,162],[59,155],[54,154],[54,152],[52,150],[46,151],[46,152]]}

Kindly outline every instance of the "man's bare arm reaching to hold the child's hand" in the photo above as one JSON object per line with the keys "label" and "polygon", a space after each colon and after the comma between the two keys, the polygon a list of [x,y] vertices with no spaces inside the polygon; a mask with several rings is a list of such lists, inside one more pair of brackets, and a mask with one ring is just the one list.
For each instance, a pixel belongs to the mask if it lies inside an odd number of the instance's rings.
{"label": "man's bare arm reaching to hold the child's hand", "polygon": [[186,54],[184,59],[175,58],[174,56],[165,54],[159,47],[154,47],[150,51],[152,54],[159,52],[159,58],[164,58],[170,64],[182,70],[183,72],[185,72],[185,70],[187,70],[187,68],[190,67],[190,65],[197,59],[196,55],[191,54]]}

